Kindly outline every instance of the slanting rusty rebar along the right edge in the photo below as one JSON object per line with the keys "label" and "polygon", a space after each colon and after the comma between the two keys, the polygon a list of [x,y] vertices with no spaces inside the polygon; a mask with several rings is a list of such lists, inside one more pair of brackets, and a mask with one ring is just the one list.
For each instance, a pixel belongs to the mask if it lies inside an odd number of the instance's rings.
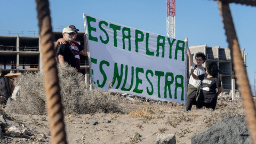
{"label": "slanting rusty rebar along the right edge", "polygon": [[227,42],[229,44],[229,49],[231,50],[232,62],[235,70],[235,77],[237,79],[238,89],[241,92],[241,97],[243,100],[243,106],[245,109],[245,116],[247,127],[250,132],[252,143],[256,143],[256,109],[255,103],[252,98],[251,87],[249,85],[249,80],[246,73],[246,68],[242,58],[240,46],[238,43],[238,38],[236,35],[235,26],[233,23],[233,18],[229,9],[228,3],[218,2],[220,15],[224,23],[224,28],[226,30]]}

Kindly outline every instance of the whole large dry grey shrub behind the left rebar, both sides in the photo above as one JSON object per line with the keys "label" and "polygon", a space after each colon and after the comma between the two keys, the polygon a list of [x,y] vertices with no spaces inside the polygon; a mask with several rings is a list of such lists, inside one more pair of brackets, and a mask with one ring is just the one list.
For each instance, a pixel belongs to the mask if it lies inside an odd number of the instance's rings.
{"label": "whole large dry grey shrub behind the left rebar, both sides", "polygon": [[[84,75],[70,66],[58,65],[62,105],[65,114],[92,114],[96,112],[122,112],[121,99],[108,91],[89,91]],[[46,99],[42,73],[24,73],[18,79],[19,96],[13,101],[20,114],[46,114]]]}

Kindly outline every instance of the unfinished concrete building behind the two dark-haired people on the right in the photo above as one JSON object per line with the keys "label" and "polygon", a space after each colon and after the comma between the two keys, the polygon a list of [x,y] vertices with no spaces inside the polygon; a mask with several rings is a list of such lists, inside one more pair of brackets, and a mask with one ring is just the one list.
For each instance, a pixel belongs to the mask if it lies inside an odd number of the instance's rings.
{"label": "unfinished concrete building behind the two dark-haired people on the right", "polygon": [[[207,46],[205,45],[196,45],[189,46],[190,52],[193,55],[194,63],[195,53],[203,52],[206,55],[206,61],[215,61],[219,66],[219,78],[222,82],[222,93],[227,95],[232,95],[232,93],[236,93],[236,97],[238,97],[239,93],[237,91],[237,85],[235,83],[235,73],[233,70],[230,50],[228,48],[221,48],[220,46]],[[244,49],[241,49],[242,58],[244,59],[244,65],[246,67],[246,55],[244,53]],[[203,64],[205,67],[206,62]]]}

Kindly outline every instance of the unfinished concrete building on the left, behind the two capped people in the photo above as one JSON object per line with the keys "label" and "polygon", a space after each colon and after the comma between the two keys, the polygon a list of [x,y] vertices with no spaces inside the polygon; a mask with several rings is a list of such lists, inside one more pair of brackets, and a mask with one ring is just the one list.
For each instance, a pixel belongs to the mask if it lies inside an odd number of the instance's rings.
{"label": "unfinished concrete building on the left, behind the two capped people", "polygon": [[[76,41],[83,45],[84,33],[78,33]],[[55,41],[62,38],[61,31],[53,32]],[[42,69],[42,53],[39,37],[0,36],[0,73],[24,73]],[[81,55],[81,73],[89,72],[88,58]]]}

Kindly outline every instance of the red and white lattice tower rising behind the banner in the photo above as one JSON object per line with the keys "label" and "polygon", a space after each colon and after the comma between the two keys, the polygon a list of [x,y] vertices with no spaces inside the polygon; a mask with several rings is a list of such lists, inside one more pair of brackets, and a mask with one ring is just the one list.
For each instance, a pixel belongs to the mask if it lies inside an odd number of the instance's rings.
{"label": "red and white lattice tower rising behind the banner", "polygon": [[167,1],[167,36],[175,38],[175,0]]}

